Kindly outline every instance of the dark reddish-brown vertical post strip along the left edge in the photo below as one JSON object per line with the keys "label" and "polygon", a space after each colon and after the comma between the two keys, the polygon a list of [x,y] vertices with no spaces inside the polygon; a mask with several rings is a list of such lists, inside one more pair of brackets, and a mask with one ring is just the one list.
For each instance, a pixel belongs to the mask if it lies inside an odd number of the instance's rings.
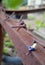
{"label": "dark reddish-brown vertical post strip along the left edge", "polygon": [[3,42],[4,42],[3,28],[0,24],[0,62],[2,61]]}

